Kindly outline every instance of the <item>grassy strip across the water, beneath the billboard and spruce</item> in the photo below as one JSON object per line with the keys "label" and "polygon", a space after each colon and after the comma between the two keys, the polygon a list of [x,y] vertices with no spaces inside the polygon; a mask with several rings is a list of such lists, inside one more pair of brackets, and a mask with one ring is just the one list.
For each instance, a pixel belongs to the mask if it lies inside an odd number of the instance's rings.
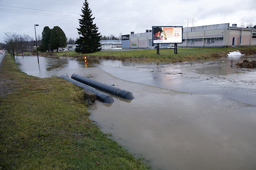
{"label": "grassy strip across the water, beneath the billboard and spruce", "polygon": [[178,48],[178,54],[174,54],[173,48],[160,49],[160,53],[156,54],[156,49],[140,49],[140,50],[101,50],[95,53],[80,54],[74,51],[42,53],[42,55],[63,55],[70,57],[87,59],[108,59],[122,61],[153,61],[153,62],[183,62],[195,60],[209,60],[224,57],[229,52],[241,51],[243,54],[256,54],[256,47],[239,47],[239,48]]}

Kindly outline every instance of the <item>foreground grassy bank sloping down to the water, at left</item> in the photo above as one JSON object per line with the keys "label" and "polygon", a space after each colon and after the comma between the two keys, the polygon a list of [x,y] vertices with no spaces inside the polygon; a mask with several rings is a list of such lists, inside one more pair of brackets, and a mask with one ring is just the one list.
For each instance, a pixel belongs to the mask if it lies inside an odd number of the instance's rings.
{"label": "foreground grassy bank sloping down to the water, at left", "polygon": [[150,169],[89,119],[82,90],[59,77],[0,71],[0,169]]}

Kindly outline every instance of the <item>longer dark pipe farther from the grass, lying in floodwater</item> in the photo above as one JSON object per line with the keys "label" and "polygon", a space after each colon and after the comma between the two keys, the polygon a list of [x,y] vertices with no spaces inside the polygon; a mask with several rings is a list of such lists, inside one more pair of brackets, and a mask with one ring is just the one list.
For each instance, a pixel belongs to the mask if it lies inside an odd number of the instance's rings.
{"label": "longer dark pipe farther from the grass, lying in floodwater", "polygon": [[97,89],[100,89],[100,90],[106,91],[108,93],[111,93],[113,95],[120,96],[120,97],[123,97],[125,99],[134,99],[134,96],[129,91],[118,89],[116,87],[113,87],[113,86],[101,83],[99,81],[95,81],[95,80],[83,77],[83,76],[78,75],[78,74],[72,74],[71,78],[76,80],[76,81],[79,81],[81,83],[84,83],[88,86],[92,86],[92,87],[95,87]]}

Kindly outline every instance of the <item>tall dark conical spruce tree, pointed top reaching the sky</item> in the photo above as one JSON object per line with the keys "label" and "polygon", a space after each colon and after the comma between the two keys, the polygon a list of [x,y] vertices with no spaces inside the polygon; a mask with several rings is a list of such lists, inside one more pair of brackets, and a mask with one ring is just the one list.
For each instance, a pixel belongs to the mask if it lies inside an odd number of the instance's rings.
{"label": "tall dark conical spruce tree, pointed top reaching the sky", "polygon": [[98,33],[98,27],[93,24],[92,11],[89,8],[87,0],[84,1],[82,8],[83,14],[80,15],[82,19],[79,20],[80,28],[77,28],[79,38],[76,40],[76,52],[77,53],[93,53],[100,51],[100,33]]}

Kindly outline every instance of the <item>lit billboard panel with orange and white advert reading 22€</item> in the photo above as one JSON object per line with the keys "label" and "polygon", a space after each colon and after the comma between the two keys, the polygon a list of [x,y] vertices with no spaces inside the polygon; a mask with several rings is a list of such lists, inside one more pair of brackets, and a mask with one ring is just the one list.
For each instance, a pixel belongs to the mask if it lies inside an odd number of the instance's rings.
{"label": "lit billboard panel with orange and white advert reading 22\u20ac", "polygon": [[154,44],[182,43],[183,26],[152,26]]}

